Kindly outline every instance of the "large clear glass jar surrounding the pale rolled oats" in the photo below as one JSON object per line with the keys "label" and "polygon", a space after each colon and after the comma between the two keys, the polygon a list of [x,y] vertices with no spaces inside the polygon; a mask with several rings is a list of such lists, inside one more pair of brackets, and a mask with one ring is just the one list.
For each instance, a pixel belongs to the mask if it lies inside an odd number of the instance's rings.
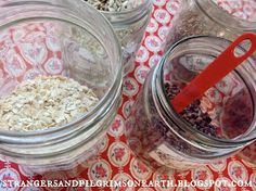
{"label": "large clear glass jar surrounding the pale rolled oats", "polygon": [[100,100],[61,127],[0,130],[1,157],[36,173],[73,168],[98,154],[121,99],[116,35],[104,16],[81,1],[12,0],[0,9],[1,97],[35,76],[62,75],[86,85]]}

